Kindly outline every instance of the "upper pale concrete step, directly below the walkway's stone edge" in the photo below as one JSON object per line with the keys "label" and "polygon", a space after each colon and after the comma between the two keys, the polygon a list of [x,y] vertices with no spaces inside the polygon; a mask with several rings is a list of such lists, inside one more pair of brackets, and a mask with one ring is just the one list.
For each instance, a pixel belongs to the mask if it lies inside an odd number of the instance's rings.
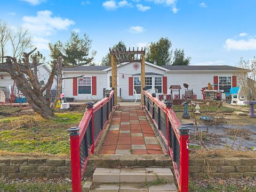
{"label": "upper pale concrete step, directly below the walkway's stone edge", "polygon": [[96,168],[93,183],[142,183],[155,179],[166,179],[173,182],[173,174],[169,168]]}

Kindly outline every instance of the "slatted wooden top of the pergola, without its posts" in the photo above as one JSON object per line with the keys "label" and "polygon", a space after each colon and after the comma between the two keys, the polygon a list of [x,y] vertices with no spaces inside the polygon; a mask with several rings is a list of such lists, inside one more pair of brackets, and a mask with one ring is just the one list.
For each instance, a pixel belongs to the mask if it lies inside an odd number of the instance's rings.
{"label": "slatted wooden top of the pergola, without its posts", "polygon": [[118,50],[118,49],[111,49],[109,48],[110,55],[114,55],[116,57],[116,60],[118,63],[123,63],[123,62],[141,62],[142,60],[142,55],[145,55],[145,47],[137,47],[137,50],[134,49],[134,47],[131,48],[129,47],[128,50]]}

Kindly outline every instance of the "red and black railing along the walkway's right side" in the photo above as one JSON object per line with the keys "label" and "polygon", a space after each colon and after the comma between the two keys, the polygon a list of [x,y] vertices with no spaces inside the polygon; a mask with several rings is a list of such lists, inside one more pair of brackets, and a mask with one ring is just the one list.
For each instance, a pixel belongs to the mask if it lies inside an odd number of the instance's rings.
{"label": "red and black railing along the walkway's right side", "polygon": [[143,90],[144,107],[153,121],[155,130],[169,152],[179,191],[188,191],[188,132],[187,127],[181,127],[172,109],[172,102],[161,102],[156,94]]}

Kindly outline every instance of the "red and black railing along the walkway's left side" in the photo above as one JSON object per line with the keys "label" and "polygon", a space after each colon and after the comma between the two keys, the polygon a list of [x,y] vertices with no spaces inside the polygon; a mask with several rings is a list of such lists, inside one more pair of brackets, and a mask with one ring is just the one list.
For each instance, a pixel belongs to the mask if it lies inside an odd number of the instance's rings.
{"label": "red and black railing along the walkway's left side", "polygon": [[72,191],[81,192],[83,177],[89,155],[93,153],[102,130],[107,126],[111,113],[114,110],[115,90],[107,94],[100,102],[87,103],[87,111],[78,127],[68,129],[71,151],[71,179]]}

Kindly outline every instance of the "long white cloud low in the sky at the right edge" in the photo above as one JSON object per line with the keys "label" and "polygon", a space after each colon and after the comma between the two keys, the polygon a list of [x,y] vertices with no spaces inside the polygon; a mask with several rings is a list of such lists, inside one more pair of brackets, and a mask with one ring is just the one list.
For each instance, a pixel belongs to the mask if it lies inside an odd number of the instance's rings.
{"label": "long white cloud low in the sky at the right edge", "polygon": [[228,51],[230,50],[256,50],[256,39],[251,38],[248,40],[235,40],[227,39],[225,47]]}

